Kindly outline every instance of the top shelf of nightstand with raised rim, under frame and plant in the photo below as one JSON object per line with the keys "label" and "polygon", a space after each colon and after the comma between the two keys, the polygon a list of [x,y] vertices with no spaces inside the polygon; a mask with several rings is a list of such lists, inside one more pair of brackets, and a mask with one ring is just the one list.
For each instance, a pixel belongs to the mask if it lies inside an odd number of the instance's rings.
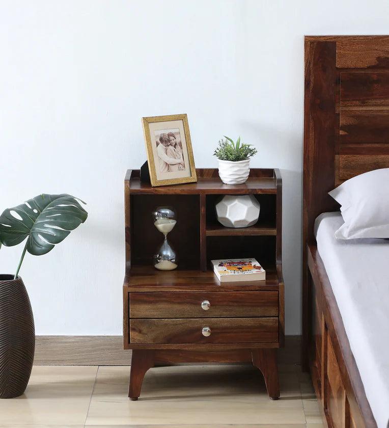
{"label": "top shelf of nightstand with raised rim, under frame and plant", "polygon": [[276,194],[277,177],[273,169],[252,169],[244,184],[224,184],[217,169],[197,169],[196,183],[152,187],[141,182],[139,170],[128,170],[126,179],[131,194]]}

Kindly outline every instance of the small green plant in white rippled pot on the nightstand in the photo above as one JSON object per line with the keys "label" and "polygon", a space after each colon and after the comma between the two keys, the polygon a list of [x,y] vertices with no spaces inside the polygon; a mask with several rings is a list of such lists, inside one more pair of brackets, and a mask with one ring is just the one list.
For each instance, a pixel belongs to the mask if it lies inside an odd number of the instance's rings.
{"label": "small green plant in white rippled pot on the nightstand", "polygon": [[236,143],[224,136],[218,142],[213,153],[219,159],[219,176],[226,184],[243,184],[250,172],[250,157],[257,153],[251,144],[240,144],[240,137]]}

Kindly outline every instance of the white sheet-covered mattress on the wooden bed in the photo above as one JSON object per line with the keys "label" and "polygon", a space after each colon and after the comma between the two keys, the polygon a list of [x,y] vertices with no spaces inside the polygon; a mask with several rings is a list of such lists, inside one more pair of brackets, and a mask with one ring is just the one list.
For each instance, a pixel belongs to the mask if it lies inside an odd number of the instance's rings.
{"label": "white sheet-covered mattress on the wooden bed", "polygon": [[389,426],[389,239],[335,238],[340,212],[315,221],[331,283],[378,428]]}

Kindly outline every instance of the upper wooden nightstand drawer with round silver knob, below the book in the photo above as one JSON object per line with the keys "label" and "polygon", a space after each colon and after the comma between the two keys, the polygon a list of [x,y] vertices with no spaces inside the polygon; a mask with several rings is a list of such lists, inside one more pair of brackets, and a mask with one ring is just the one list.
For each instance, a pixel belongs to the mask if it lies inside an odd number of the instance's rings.
{"label": "upper wooden nightstand drawer with round silver knob, below the book", "polygon": [[278,316],[277,291],[131,292],[130,318]]}

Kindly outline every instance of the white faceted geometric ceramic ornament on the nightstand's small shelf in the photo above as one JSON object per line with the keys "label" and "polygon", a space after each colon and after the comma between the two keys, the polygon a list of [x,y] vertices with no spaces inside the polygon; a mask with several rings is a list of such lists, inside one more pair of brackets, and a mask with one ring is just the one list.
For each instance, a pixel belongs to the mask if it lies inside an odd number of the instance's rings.
{"label": "white faceted geometric ceramic ornament on the nightstand's small shelf", "polygon": [[260,204],[253,195],[225,195],[216,203],[216,217],[225,227],[248,227],[256,224]]}

